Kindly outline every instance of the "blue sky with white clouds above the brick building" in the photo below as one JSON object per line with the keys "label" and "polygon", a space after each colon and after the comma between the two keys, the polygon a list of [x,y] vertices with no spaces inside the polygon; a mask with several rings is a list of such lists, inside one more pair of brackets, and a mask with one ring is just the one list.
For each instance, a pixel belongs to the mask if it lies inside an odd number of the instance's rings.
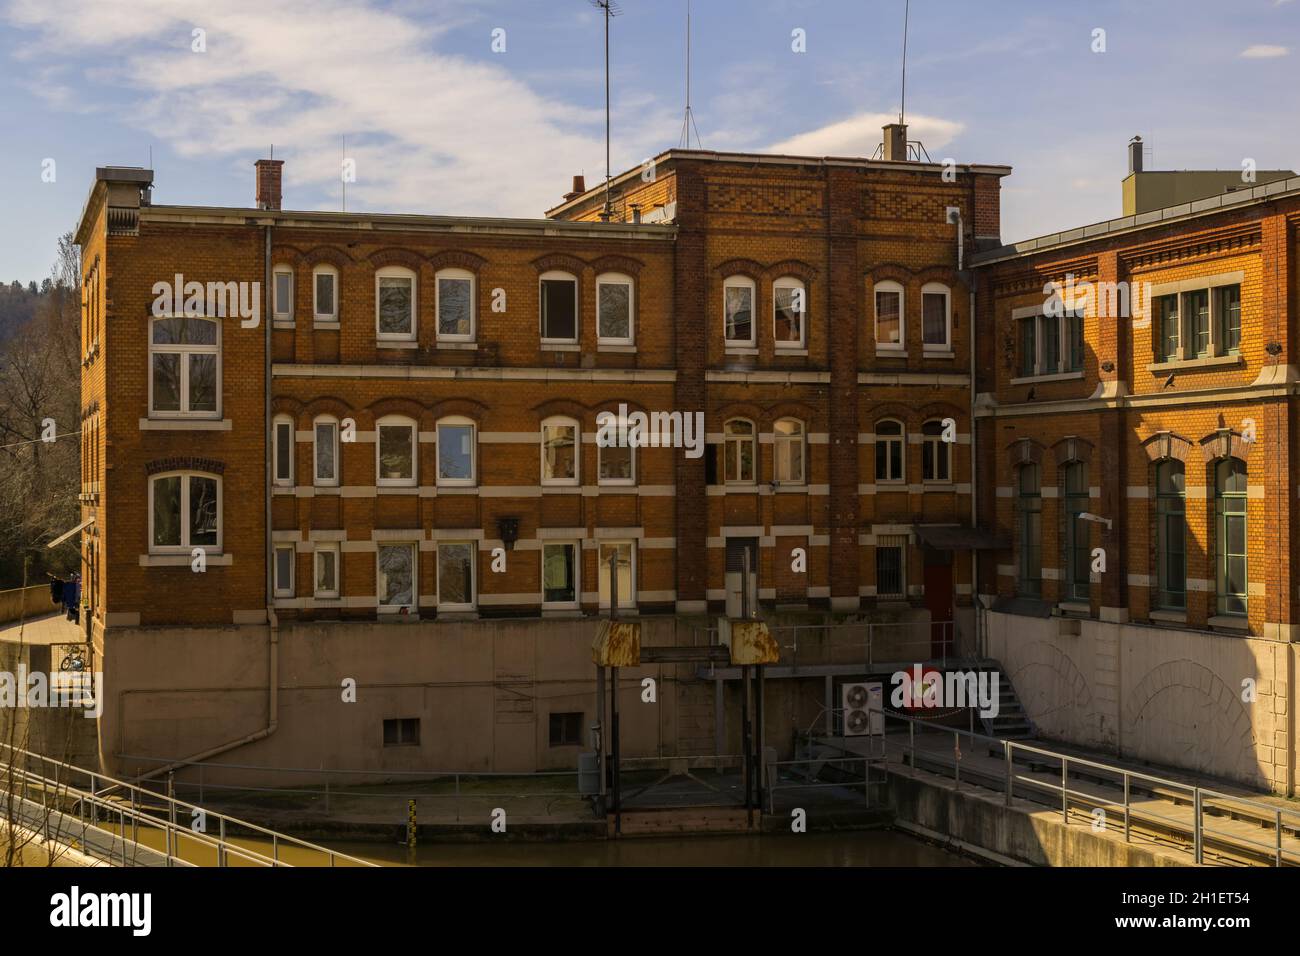
{"label": "blue sky with white clouds above the brick building", "polygon": [[[686,64],[686,0],[619,8],[615,172],[680,143]],[[702,146],[870,156],[904,8],[692,0]],[[603,30],[590,0],[0,0],[0,281],[49,274],[103,165],[248,207],[274,146],[285,208],[341,208],[346,157],[348,209],[541,216],[604,173]],[[911,0],[905,107],[935,161],[1014,166],[1006,242],[1121,215],[1134,135],[1148,169],[1297,169],[1300,0]]]}

